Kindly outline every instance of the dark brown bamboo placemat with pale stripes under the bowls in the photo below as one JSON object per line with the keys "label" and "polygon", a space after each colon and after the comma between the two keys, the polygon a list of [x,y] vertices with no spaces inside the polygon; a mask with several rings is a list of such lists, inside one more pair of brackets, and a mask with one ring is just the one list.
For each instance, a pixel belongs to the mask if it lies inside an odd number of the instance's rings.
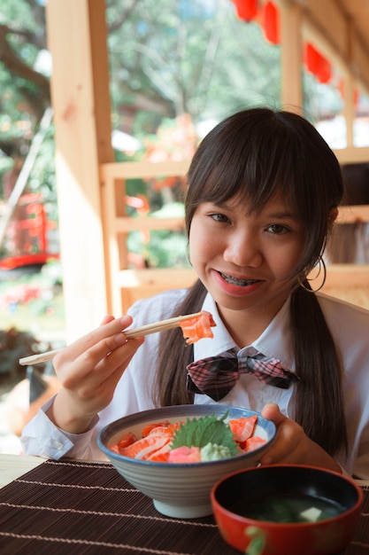
{"label": "dark brown bamboo placemat with pale stripes under the bowls", "polygon": [[[170,519],[111,465],[46,461],[0,489],[2,555],[235,555],[212,516]],[[369,554],[369,490],[353,542]],[[296,554],[297,555],[297,554]],[[311,554],[312,555],[312,554]]]}

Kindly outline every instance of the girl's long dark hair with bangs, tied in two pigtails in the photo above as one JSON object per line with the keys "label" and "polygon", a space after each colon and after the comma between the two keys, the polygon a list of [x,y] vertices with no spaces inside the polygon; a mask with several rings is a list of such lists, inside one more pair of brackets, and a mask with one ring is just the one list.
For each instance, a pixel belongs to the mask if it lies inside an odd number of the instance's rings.
{"label": "girl's long dark hair with bangs, tied in two pigtails", "polygon": [[[234,195],[258,211],[283,198],[304,227],[304,253],[295,272],[290,317],[296,359],[295,419],[328,453],[347,449],[342,402],[342,363],[306,276],[324,252],[332,210],[343,196],[341,168],[319,132],[296,113],[252,108],[234,113],[204,137],[188,169],[186,228],[203,202],[220,204]],[[206,295],[197,280],[174,315],[200,310]],[[174,347],[175,346],[175,347]],[[181,330],[163,334],[158,352],[158,405],[193,403],[186,391],[192,348]]]}

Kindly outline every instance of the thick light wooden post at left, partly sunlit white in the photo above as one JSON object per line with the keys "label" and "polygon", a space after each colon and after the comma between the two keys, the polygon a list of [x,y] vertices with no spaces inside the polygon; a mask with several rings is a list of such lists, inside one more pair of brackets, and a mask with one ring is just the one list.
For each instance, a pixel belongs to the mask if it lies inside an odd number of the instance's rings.
{"label": "thick light wooden post at left, partly sunlit white", "polygon": [[113,161],[104,0],[48,0],[66,340],[107,309],[99,164]]}

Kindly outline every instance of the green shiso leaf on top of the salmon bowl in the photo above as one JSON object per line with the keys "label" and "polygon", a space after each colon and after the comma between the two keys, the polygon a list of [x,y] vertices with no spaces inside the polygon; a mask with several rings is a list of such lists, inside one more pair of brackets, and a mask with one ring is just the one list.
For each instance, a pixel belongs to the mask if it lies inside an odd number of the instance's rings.
{"label": "green shiso leaf on top of the salmon bowl", "polygon": [[192,420],[188,418],[187,422],[176,430],[171,442],[171,449],[183,446],[199,447],[201,449],[208,443],[213,443],[214,445],[227,447],[230,456],[234,457],[239,448],[234,441],[230,427],[224,422],[225,418],[227,418],[227,412],[222,418],[217,418],[215,415],[193,418]]}

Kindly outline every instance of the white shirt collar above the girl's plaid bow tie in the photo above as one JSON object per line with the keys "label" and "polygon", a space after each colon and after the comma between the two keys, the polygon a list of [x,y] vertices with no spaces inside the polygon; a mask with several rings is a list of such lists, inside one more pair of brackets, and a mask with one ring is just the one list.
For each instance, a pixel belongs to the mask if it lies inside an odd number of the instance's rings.
{"label": "white shirt collar above the girl's plaid bow tie", "polygon": [[[202,309],[211,313],[217,325],[211,328],[214,335],[213,339],[205,338],[194,344],[194,360],[200,360],[207,356],[217,356],[230,348],[237,348],[226,326],[219,317],[217,305],[210,293],[206,295]],[[289,371],[295,371],[290,334],[289,298],[258,339],[253,341],[251,345],[242,348],[242,351],[248,354],[249,350],[250,355],[253,355],[255,349],[265,356],[280,359],[284,368]]]}

